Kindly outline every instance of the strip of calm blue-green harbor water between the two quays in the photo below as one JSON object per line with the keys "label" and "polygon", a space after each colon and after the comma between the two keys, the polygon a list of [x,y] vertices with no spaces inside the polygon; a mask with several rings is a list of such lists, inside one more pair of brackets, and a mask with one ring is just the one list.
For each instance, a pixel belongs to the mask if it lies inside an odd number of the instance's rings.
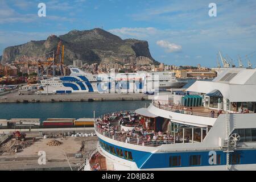
{"label": "strip of calm blue-green harbor water between the two quays", "polygon": [[93,118],[119,110],[134,110],[151,101],[40,102],[0,104],[0,119],[11,118]]}

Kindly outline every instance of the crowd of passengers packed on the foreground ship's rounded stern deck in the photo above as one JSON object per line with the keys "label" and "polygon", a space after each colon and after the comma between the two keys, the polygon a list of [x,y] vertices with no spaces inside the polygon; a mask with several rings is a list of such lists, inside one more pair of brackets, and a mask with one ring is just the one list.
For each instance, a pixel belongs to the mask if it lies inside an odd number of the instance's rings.
{"label": "crowd of passengers packed on the foreground ship's rounded stern deck", "polygon": [[[119,130],[118,125],[112,125],[112,122],[118,122],[121,125],[135,126],[132,130]],[[108,132],[115,137],[119,137],[123,142],[127,139],[128,143],[147,144],[148,142],[162,142],[162,143],[174,143],[174,136],[162,131],[155,132],[150,130],[150,120],[145,119],[141,115],[131,112],[115,112],[112,114],[105,114],[102,118],[96,119],[96,126],[101,131]],[[183,138],[177,134],[175,136],[175,142],[183,142]],[[184,137],[184,142],[189,142],[189,137]]]}

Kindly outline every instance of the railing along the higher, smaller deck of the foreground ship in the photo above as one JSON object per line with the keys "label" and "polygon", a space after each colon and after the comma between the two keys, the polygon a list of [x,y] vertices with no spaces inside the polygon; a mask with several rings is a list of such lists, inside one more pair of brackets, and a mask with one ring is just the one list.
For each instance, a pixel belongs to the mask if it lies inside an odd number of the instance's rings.
{"label": "railing along the higher, smaller deck of the foreground ship", "polygon": [[175,113],[188,114],[188,115],[197,115],[197,116],[209,117],[209,118],[217,118],[218,117],[217,114],[212,115],[210,113],[205,114],[205,113],[199,113],[199,112],[194,112],[194,111],[191,112],[189,110],[183,110],[183,109],[174,109],[178,105],[167,106],[167,105],[160,104],[160,106],[159,106],[158,101],[152,101],[152,104],[155,107],[158,107],[159,109],[168,110],[168,111],[172,111],[172,112],[175,112]]}

